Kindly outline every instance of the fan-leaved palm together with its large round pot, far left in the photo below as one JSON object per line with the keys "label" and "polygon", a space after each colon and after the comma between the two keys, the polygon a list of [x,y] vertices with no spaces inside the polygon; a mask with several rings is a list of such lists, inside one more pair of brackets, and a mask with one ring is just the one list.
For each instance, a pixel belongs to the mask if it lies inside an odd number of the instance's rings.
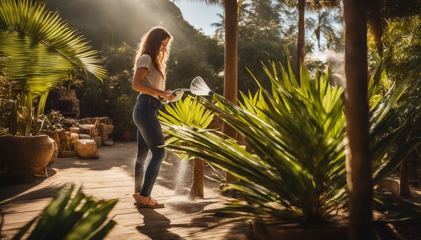
{"label": "fan-leaved palm together with its large round pot, far left", "polygon": [[13,90],[20,92],[9,113],[10,136],[0,137],[0,164],[19,181],[34,174],[45,176],[53,154],[53,142],[40,134],[48,91],[71,69],[81,68],[101,81],[107,75],[97,65],[97,52],[89,50],[57,12],[28,0],[4,0],[0,8],[0,49],[6,56],[0,67]]}

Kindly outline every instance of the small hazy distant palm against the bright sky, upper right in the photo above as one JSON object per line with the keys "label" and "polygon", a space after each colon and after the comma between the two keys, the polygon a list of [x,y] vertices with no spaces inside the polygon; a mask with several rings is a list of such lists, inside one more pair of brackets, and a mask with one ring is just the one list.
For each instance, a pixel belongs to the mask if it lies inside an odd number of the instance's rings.
{"label": "small hazy distant palm against the bright sky, upper right", "polygon": [[317,40],[317,47],[320,51],[320,34],[324,34],[327,38],[330,34],[334,34],[335,29],[332,26],[332,23],[335,20],[332,18],[328,11],[317,13],[317,19],[314,18],[307,18],[306,25],[309,29],[313,30],[313,35],[316,37]]}

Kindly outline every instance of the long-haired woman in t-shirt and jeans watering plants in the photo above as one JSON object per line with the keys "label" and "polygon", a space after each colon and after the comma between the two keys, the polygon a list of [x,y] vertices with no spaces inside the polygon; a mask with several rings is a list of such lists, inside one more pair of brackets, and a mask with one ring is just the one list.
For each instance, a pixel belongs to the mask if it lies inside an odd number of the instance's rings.
{"label": "long-haired woman in t-shirt and jeans watering plants", "polygon": [[[137,158],[135,165],[135,194],[137,207],[163,208],[151,197],[161,164],[165,159],[164,137],[157,114],[160,97],[172,100],[175,96],[165,90],[165,66],[170,54],[171,34],[163,27],[153,27],[141,39],[134,62],[133,89],[140,92],[133,110],[137,130]],[[144,171],[149,149],[152,159]]]}

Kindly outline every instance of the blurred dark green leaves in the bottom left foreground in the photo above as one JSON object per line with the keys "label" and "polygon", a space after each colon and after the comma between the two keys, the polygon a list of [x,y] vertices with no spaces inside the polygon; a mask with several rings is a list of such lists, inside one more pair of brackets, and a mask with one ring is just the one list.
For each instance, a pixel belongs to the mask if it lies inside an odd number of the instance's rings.
{"label": "blurred dark green leaves in the bottom left foreground", "polygon": [[103,239],[116,224],[114,220],[104,222],[117,199],[96,201],[81,188],[72,196],[73,190],[74,185],[61,187],[43,213],[22,227],[13,240],[21,239],[35,222],[27,239]]}

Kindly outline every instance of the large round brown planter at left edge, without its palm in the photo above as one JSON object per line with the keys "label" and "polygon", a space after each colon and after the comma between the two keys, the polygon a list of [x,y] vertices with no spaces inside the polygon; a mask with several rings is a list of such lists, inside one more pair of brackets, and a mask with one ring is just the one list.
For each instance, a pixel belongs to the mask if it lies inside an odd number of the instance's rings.
{"label": "large round brown planter at left edge, without its palm", "polygon": [[8,169],[10,182],[21,182],[31,176],[47,176],[53,156],[54,140],[47,135],[0,137],[0,166]]}

